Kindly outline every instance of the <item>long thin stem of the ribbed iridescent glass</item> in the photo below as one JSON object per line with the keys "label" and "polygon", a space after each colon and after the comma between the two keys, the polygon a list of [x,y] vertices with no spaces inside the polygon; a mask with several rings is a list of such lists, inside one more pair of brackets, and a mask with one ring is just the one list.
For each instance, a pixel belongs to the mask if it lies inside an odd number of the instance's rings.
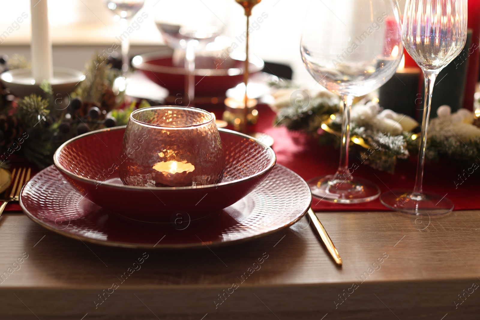
{"label": "long thin stem of the ribbed iridescent glass", "polygon": [[438,71],[423,71],[425,77],[425,101],[423,102],[423,117],[421,122],[419,160],[417,164],[417,176],[415,178],[415,187],[412,196],[420,200],[423,196],[423,166],[425,164],[425,149],[427,148],[427,130],[430,119],[430,106],[432,104],[432,92]]}

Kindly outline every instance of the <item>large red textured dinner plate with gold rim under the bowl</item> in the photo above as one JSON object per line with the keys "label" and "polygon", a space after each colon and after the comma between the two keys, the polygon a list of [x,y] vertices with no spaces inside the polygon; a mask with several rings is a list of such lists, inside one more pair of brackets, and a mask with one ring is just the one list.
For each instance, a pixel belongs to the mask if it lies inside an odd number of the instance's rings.
{"label": "large red textured dinner plate with gold rim under the bowl", "polygon": [[165,224],[135,222],[96,205],[55,166],[40,171],[20,194],[24,213],[51,231],[101,245],[149,249],[218,246],[265,236],[297,222],[311,201],[307,183],[279,165],[255,190],[228,208],[199,220],[178,211]]}

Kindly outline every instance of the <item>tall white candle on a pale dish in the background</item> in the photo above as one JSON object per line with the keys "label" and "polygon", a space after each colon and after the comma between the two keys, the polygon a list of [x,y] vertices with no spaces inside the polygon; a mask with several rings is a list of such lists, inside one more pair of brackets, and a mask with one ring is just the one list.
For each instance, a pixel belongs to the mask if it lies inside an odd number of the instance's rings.
{"label": "tall white candle on a pale dish in the background", "polygon": [[35,81],[53,78],[52,42],[48,26],[48,0],[30,0],[32,12],[32,72]]}

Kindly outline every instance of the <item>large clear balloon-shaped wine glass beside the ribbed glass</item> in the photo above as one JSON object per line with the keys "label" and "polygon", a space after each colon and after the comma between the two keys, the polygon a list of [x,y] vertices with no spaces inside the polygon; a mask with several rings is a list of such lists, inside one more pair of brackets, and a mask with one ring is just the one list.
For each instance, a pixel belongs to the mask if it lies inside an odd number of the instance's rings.
{"label": "large clear balloon-shaped wine glass beside the ribbed glass", "polygon": [[337,203],[372,201],[380,189],[353,178],[348,164],[353,98],[388,81],[402,59],[400,15],[392,0],[312,1],[300,42],[303,64],[328,91],[343,99],[340,163],[335,175],[308,181],[312,194]]}

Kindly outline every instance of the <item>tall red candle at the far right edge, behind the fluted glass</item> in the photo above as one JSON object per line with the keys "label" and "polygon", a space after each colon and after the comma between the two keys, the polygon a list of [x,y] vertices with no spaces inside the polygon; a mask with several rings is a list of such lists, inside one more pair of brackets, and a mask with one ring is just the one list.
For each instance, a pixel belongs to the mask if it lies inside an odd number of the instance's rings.
{"label": "tall red candle at the far right edge, behind the fluted glass", "polygon": [[468,0],[468,28],[473,31],[472,42],[468,49],[468,70],[467,83],[465,85],[465,98],[463,107],[468,110],[473,109],[473,95],[475,94],[475,85],[479,77],[480,60],[480,0]]}

